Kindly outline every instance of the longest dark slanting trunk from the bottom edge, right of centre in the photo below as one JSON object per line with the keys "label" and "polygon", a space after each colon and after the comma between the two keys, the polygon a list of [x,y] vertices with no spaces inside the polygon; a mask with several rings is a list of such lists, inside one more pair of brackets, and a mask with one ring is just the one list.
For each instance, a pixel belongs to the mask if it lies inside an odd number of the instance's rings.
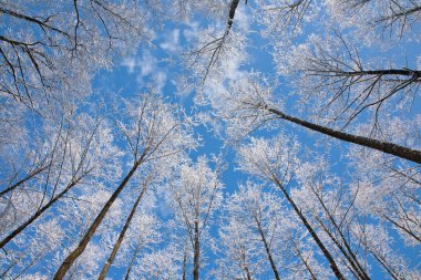
{"label": "longest dark slanting trunk from the bottom edge, right of centre", "polygon": [[274,182],[279,187],[279,189],[284,193],[285,197],[287,198],[289,204],[292,206],[295,212],[298,215],[298,217],[302,221],[304,226],[307,228],[308,232],[311,235],[312,239],[316,241],[317,246],[320,248],[321,252],[325,255],[325,257],[328,260],[330,268],[333,271],[335,276],[340,280],[345,280],[345,277],[342,276],[338,266],[336,265],[333,257],[330,255],[328,249],[321,242],[320,238],[318,237],[316,231],[312,229],[310,224],[307,221],[306,217],[304,217],[302,212],[298,209],[297,205],[294,203],[292,198],[288,195],[288,193],[284,188],[283,184],[276,177],[274,178]]}

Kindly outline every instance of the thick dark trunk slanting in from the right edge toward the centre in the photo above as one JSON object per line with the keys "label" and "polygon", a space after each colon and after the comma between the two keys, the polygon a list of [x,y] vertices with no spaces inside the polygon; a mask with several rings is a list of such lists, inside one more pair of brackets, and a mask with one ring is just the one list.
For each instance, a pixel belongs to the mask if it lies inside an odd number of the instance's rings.
{"label": "thick dark trunk slanting in from the right edge toward the centre", "polygon": [[280,118],[284,118],[284,120],[291,122],[291,123],[295,123],[295,124],[299,124],[299,125],[307,127],[311,131],[319,132],[319,133],[322,133],[325,135],[329,135],[329,136],[337,138],[337,139],[350,142],[350,143],[358,144],[358,145],[364,146],[364,147],[370,147],[370,148],[373,148],[373,149],[377,149],[377,151],[380,151],[380,152],[383,152],[387,154],[391,154],[391,155],[394,155],[394,156],[398,156],[398,157],[421,164],[421,152],[420,151],[403,147],[403,146],[400,146],[400,145],[397,145],[393,143],[389,143],[389,142],[382,142],[382,141],[378,141],[378,139],[372,139],[372,138],[368,138],[368,137],[363,137],[363,136],[357,136],[357,135],[335,131],[335,129],[328,128],[326,126],[317,125],[317,124],[309,123],[309,122],[306,122],[304,120],[300,120],[300,118],[297,118],[294,116],[286,115],[276,108],[266,107],[266,110],[269,111],[270,113],[278,115]]}

